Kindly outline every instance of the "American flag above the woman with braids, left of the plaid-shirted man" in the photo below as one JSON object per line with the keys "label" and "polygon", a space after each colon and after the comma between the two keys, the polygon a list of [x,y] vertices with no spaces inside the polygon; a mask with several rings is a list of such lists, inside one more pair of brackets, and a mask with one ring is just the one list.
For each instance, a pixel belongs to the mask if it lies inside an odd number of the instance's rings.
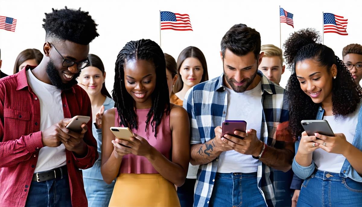
{"label": "American flag above the woman with braids, left of the plaid-shirted man", "polygon": [[161,30],[192,30],[189,14],[161,12]]}

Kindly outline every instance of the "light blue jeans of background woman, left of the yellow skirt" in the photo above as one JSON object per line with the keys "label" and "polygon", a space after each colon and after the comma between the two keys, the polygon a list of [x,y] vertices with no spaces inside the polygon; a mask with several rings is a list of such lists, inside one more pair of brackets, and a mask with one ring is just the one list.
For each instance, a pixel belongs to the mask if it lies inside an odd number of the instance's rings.
{"label": "light blue jeans of background woman, left of the yellow skirt", "polygon": [[103,180],[83,178],[88,207],[107,207],[113,193],[115,181],[107,184]]}

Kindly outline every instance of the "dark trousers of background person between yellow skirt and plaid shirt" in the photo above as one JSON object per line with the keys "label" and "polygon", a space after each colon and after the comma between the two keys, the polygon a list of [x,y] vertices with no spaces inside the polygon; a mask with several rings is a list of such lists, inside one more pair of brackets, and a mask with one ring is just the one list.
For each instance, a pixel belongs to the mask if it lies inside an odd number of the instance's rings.
{"label": "dark trousers of background person between yellow skirt and plaid shirt", "polygon": [[184,185],[177,188],[178,200],[181,207],[190,207],[194,204],[194,191],[196,179],[186,178]]}

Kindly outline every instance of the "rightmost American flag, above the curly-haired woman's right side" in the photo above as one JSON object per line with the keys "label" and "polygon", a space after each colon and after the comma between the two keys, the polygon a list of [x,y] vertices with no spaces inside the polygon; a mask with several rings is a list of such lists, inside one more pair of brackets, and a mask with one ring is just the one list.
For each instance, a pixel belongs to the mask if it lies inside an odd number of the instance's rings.
{"label": "rightmost American flag, above the curly-haired woman's right side", "polygon": [[347,29],[347,19],[342,16],[337,16],[331,13],[324,13],[324,33],[337,33],[340,35],[348,35]]}

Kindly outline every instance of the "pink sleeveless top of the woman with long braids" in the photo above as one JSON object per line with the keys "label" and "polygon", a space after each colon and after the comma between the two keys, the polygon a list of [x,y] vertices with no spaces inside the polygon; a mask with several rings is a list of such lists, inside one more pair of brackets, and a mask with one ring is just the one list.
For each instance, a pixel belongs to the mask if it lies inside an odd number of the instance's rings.
{"label": "pink sleeveless top of the woman with long braids", "polygon": [[[162,155],[171,160],[172,133],[170,128],[170,115],[164,114],[162,116],[161,123],[157,127],[157,137],[155,137],[155,132],[152,132],[151,126],[153,117],[151,117],[150,123],[148,123],[147,132],[145,131],[148,111],[150,111],[150,109],[136,109],[138,130],[135,128],[132,128],[131,130],[133,133],[142,136],[150,143],[150,145],[161,152]],[[115,109],[114,126],[123,127],[123,125],[119,126],[119,122],[119,115],[117,109]],[[158,172],[153,168],[146,157],[129,154],[123,156],[119,173],[144,174]]]}

